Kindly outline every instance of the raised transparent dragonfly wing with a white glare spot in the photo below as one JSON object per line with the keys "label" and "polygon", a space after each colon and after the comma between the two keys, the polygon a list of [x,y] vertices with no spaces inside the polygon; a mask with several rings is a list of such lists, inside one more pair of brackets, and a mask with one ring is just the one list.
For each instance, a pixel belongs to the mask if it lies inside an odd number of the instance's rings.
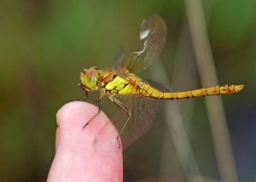
{"label": "raised transparent dragonfly wing with a white glare spot", "polygon": [[164,48],[166,31],[166,23],[158,14],[152,14],[143,20],[140,28],[140,41],[143,50],[131,53],[125,62],[116,65],[117,71],[136,74],[147,69],[158,59]]}

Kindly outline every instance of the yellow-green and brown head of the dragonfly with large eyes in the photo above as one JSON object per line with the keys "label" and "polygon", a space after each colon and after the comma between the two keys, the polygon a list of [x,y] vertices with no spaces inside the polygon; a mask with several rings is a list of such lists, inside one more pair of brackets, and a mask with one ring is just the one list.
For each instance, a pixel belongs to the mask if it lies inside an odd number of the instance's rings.
{"label": "yellow-green and brown head of the dragonfly with large eyes", "polygon": [[98,81],[100,80],[101,72],[97,67],[90,67],[89,69],[84,69],[80,73],[79,86],[83,88],[86,92],[99,89]]}

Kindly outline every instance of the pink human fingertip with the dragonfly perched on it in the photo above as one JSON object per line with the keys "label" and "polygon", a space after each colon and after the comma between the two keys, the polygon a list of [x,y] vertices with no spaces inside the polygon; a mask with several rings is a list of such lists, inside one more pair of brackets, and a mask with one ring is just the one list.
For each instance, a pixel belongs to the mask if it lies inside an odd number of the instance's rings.
{"label": "pink human fingertip with the dragonfly perched on it", "polygon": [[84,129],[98,108],[75,101],[57,113],[55,158],[49,170],[51,181],[122,181],[123,156],[118,132],[101,112]]}

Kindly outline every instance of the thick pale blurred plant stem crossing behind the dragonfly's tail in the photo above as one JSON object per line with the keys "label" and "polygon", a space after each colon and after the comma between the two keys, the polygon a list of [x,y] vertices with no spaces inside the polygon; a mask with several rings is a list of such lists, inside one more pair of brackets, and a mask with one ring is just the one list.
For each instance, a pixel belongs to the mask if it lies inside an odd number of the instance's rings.
{"label": "thick pale blurred plant stem crossing behind the dragonfly's tail", "polygon": [[[218,84],[201,1],[185,0],[185,6],[201,83],[204,87],[208,84]],[[206,98],[206,105],[219,173],[224,181],[236,182],[238,181],[236,166],[221,97]]]}

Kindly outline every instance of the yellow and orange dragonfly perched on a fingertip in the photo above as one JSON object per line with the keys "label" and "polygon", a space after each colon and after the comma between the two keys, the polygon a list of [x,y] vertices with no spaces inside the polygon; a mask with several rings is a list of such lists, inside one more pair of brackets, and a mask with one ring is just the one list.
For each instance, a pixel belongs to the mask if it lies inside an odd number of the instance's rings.
{"label": "yellow and orange dragonfly perched on a fingertip", "polygon": [[101,70],[92,66],[84,69],[79,75],[79,86],[86,95],[91,91],[100,92],[99,110],[87,124],[100,114],[103,96],[108,96],[119,107],[111,120],[119,130],[123,148],[145,134],[152,126],[160,111],[160,100],[234,94],[244,88],[243,85],[225,84],[191,91],[170,92],[163,84],[138,77],[137,73],[146,70],[159,59],[166,43],[166,32],[165,21],[159,14],[151,14],[140,26],[142,50],[132,52],[127,60],[118,59],[111,70]]}

